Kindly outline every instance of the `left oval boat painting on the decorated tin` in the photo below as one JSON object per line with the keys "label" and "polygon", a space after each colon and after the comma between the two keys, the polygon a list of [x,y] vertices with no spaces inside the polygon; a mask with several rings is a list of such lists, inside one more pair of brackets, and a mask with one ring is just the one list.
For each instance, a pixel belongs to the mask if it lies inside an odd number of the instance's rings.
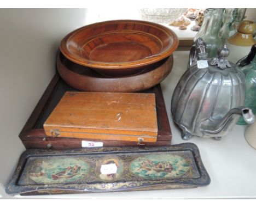
{"label": "left oval boat painting on the decorated tin", "polygon": [[89,172],[88,163],[79,158],[49,158],[37,163],[29,174],[37,183],[54,184],[70,183],[82,179]]}

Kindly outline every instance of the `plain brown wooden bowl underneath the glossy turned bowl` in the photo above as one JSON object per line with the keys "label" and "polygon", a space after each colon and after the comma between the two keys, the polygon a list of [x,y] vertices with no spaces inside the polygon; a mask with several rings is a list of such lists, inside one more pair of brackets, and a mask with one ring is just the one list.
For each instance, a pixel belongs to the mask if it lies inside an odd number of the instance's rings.
{"label": "plain brown wooden bowl underneath the glossy turned bowl", "polygon": [[82,91],[135,92],[154,87],[170,74],[173,56],[146,67],[142,74],[126,77],[104,77],[85,66],[57,57],[57,71],[72,87]]}

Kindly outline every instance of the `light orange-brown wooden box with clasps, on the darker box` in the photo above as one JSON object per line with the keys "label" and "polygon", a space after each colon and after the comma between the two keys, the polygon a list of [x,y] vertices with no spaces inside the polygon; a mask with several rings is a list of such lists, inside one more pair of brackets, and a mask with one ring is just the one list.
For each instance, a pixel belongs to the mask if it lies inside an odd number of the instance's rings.
{"label": "light orange-brown wooden box with clasps, on the darker box", "polygon": [[155,94],[67,91],[44,130],[54,137],[156,142]]}

